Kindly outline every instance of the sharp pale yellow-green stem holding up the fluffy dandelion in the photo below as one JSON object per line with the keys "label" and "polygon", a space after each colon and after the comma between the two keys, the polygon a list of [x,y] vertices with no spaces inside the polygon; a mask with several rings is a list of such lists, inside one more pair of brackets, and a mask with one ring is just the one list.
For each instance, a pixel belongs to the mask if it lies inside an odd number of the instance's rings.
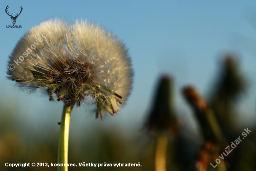
{"label": "sharp pale yellow-green stem holding up the fluffy dandelion", "polygon": [[[64,104],[62,119],[61,119],[61,131],[58,146],[58,164],[67,164],[67,150],[68,150],[68,133],[70,124],[70,113],[72,106]],[[58,171],[67,171],[67,166],[58,167]]]}

